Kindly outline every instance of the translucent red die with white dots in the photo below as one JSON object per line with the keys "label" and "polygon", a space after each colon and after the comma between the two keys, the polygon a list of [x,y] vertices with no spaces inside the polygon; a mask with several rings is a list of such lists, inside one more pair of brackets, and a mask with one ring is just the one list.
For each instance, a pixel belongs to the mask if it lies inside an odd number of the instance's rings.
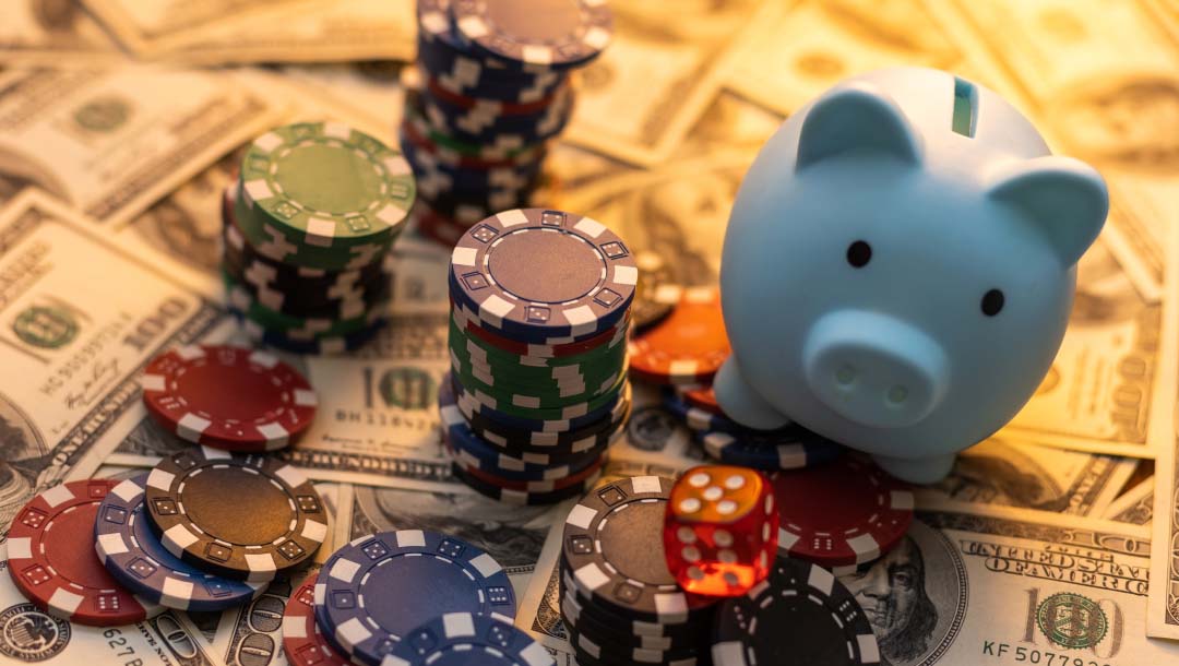
{"label": "translucent red die with white dots", "polygon": [[738,596],[765,580],[778,550],[773,489],[756,470],[705,464],[676,482],[664,519],[667,568],[687,592]]}

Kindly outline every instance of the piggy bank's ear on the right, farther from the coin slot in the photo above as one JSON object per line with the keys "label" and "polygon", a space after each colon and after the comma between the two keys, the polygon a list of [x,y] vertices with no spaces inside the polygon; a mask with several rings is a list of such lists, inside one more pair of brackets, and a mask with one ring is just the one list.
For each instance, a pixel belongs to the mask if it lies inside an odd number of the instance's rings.
{"label": "piggy bank's ear on the right, farther from the coin slot", "polygon": [[992,176],[987,196],[1027,213],[1066,266],[1075,264],[1093,244],[1109,212],[1109,192],[1101,174],[1067,157],[1007,164]]}

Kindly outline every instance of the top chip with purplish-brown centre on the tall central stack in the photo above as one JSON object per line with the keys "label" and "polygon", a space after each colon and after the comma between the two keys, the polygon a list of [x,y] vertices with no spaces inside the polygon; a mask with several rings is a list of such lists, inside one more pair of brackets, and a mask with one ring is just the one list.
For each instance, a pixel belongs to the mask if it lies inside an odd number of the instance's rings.
{"label": "top chip with purplish-brown centre on the tall central stack", "polygon": [[608,329],[638,283],[621,238],[587,217],[542,209],[479,223],[455,245],[450,268],[453,298],[485,328],[542,344]]}

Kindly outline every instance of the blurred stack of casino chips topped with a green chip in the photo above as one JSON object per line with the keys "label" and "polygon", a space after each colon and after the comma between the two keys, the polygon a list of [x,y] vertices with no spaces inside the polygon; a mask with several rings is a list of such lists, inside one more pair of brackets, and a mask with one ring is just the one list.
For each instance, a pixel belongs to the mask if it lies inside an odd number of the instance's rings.
{"label": "blurred stack of casino chips topped with a green chip", "polygon": [[338,354],[370,339],[391,297],[388,250],[414,198],[401,153],[345,125],[258,137],[223,206],[222,276],[251,341]]}

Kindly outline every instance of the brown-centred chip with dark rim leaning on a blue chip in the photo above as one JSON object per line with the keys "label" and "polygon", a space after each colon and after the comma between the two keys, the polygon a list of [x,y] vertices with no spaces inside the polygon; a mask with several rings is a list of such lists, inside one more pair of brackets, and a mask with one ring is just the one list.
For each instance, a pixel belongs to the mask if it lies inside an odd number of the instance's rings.
{"label": "brown-centred chip with dark rim leaning on a blue chip", "polygon": [[183,450],[147,476],[146,501],[170,553],[235,580],[265,582],[298,567],[328,534],[315,487],[272,457]]}

